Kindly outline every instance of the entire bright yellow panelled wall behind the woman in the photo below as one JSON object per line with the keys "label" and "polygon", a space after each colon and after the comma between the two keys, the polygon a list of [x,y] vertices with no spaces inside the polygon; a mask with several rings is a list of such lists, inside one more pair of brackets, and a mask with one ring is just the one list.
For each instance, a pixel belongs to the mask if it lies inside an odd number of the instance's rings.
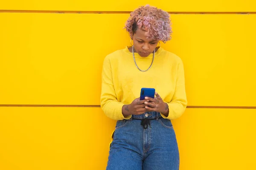
{"label": "entire bright yellow panelled wall behind the woman", "polygon": [[132,2],[0,1],[0,170],[105,169],[115,121],[99,108],[102,62],[130,44],[127,11],[146,3],[179,13],[161,45],[185,67],[180,170],[256,169],[256,109],[231,109],[256,108],[255,1]]}

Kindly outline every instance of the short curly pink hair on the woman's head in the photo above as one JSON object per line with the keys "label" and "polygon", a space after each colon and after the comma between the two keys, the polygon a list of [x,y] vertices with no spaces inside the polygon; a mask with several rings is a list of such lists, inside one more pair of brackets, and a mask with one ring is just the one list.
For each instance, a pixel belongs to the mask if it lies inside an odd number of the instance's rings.
{"label": "short curly pink hair on the woman's head", "polygon": [[164,43],[171,40],[172,28],[168,12],[149,5],[140,6],[131,12],[125,28],[133,38],[137,28],[145,31],[148,40],[161,40]]}

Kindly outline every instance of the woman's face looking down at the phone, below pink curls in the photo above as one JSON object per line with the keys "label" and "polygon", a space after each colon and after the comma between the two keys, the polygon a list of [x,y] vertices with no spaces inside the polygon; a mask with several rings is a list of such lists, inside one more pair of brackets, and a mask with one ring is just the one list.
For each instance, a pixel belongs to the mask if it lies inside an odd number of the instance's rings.
{"label": "woman's face looking down at the phone, below pink curls", "polygon": [[133,36],[134,52],[137,52],[141,57],[148,57],[150,53],[153,53],[157,47],[157,40],[147,40],[145,31],[140,28],[137,29]]}

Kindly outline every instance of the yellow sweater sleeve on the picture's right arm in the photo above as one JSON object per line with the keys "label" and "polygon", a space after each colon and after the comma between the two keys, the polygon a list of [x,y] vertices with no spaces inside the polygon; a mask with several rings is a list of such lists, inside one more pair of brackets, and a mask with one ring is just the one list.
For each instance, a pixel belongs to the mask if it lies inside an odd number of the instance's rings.
{"label": "yellow sweater sleeve on the picture's right arm", "polygon": [[186,109],[187,99],[185,91],[185,76],[183,62],[181,61],[181,59],[177,66],[177,79],[174,95],[171,102],[166,103],[169,106],[169,115],[166,117],[163,115],[163,113],[160,113],[165,119],[177,119],[184,113]]}

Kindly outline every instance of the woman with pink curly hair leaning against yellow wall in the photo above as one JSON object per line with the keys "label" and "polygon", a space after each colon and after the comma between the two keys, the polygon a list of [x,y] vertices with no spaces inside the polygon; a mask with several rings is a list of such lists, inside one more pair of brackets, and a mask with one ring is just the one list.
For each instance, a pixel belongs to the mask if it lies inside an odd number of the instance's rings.
{"label": "woman with pink curly hair leaning against yellow wall", "polygon": [[[183,62],[157,47],[171,39],[169,14],[151,6],[131,12],[126,30],[133,45],[105,57],[101,107],[118,120],[107,170],[178,170],[179,150],[172,119],[185,111]],[[155,88],[140,100],[141,88]],[[161,96],[160,96],[161,95]]]}

